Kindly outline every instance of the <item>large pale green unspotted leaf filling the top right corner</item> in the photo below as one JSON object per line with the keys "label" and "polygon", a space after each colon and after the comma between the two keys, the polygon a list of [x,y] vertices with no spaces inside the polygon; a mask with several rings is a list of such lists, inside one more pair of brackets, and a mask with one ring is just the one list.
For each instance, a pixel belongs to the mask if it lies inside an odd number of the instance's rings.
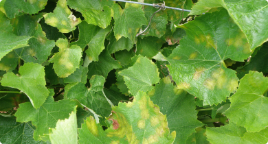
{"label": "large pale green unspotted leaf filling the top right corner", "polygon": [[222,6],[228,10],[234,22],[245,33],[250,49],[255,49],[268,38],[268,34],[263,30],[268,28],[267,5],[268,1],[202,0],[194,5],[190,14],[201,14],[211,8]]}

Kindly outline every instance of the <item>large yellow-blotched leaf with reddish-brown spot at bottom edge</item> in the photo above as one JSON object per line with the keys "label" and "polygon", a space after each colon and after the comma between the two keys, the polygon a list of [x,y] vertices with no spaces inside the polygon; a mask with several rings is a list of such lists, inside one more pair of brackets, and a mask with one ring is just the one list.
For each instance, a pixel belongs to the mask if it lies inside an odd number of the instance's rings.
{"label": "large yellow-blotched leaf with reddish-brown spot at bottom edge", "polygon": [[103,130],[93,117],[88,117],[79,132],[79,143],[173,143],[176,132],[171,134],[166,116],[150,101],[146,93],[139,91],[133,102],[113,107],[107,118],[112,123]]}

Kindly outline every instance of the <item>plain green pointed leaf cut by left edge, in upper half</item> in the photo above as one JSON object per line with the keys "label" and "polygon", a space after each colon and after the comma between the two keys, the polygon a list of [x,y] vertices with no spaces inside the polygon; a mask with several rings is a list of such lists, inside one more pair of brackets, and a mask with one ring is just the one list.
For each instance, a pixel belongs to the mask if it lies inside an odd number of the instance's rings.
{"label": "plain green pointed leaf cut by left edge, in upper half", "polygon": [[18,49],[27,46],[30,36],[16,36],[12,33],[10,20],[5,17],[5,14],[0,12],[0,60],[8,54],[12,49]]}

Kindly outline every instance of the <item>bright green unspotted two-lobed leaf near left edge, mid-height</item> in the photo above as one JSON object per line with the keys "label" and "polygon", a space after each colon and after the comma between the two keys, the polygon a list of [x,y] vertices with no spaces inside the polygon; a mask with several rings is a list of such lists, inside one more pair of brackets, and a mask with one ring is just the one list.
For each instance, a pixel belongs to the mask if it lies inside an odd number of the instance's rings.
{"label": "bright green unspotted two-lobed leaf near left edge, mid-height", "polygon": [[5,73],[1,80],[2,86],[18,88],[29,97],[32,106],[39,108],[47,99],[49,91],[45,87],[45,70],[39,64],[25,63],[19,69],[20,75]]}

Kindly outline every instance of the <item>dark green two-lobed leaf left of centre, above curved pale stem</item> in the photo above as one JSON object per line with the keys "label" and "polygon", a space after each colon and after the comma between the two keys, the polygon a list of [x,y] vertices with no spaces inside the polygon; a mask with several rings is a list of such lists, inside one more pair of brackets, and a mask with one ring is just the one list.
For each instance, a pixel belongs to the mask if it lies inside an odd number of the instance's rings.
{"label": "dark green two-lobed leaf left of centre, above curved pale stem", "polygon": [[80,104],[83,104],[87,108],[91,108],[98,115],[103,117],[109,117],[111,112],[111,106],[107,97],[103,93],[104,77],[100,75],[93,75],[89,81],[90,88],[87,88],[85,84],[81,82],[77,84],[69,84],[68,89],[65,89],[65,97],[67,99],[77,99]]}

